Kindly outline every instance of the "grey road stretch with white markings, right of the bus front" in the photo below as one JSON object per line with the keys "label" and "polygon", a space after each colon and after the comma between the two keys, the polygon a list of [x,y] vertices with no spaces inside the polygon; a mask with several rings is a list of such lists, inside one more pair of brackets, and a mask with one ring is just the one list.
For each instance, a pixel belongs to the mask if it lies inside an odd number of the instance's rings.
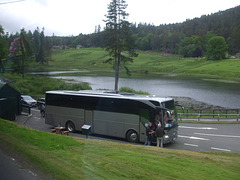
{"label": "grey road stretch with white markings, right of the bus front", "polygon": [[180,123],[179,138],[171,148],[240,153],[240,124]]}

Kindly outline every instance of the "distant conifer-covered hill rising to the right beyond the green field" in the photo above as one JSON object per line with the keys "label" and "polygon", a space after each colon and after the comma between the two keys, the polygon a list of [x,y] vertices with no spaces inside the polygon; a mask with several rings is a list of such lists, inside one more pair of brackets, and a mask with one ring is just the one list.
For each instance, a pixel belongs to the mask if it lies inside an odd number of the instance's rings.
{"label": "distant conifer-covered hill rising to the right beyond the green field", "polygon": [[[132,24],[131,29],[136,40],[136,49],[162,51],[181,54],[183,46],[195,48],[195,56],[203,56],[209,37],[217,35],[225,38],[229,54],[240,52],[240,6],[200,18],[186,20],[183,23],[164,24]],[[98,26],[95,33],[77,37],[49,37],[53,45],[66,45],[76,48],[100,47],[104,43],[103,32]],[[183,54],[184,55],[184,54]],[[194,57],[193,55],[190,55]]]}

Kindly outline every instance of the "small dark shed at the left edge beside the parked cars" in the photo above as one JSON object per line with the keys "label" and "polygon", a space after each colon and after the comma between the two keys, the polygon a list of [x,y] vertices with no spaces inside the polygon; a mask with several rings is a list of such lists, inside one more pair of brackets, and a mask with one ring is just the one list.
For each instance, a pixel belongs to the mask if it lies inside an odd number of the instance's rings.
{"label": "small dark shed at the left edge beside the parked cars", "polygon": [[21,114],[21,94],[7,83],[0,82],[0,118],[15,120]]}

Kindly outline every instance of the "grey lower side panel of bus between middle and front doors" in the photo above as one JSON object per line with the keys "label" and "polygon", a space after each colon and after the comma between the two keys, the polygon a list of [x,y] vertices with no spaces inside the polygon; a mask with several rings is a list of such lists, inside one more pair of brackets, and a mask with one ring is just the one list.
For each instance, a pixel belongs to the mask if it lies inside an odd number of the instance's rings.
{"label": "grey lower side panel of bus between middle and front doors", "polygon": [[139,129],[139,116],[94,111],[94,133],[125,138],[129,129]]}

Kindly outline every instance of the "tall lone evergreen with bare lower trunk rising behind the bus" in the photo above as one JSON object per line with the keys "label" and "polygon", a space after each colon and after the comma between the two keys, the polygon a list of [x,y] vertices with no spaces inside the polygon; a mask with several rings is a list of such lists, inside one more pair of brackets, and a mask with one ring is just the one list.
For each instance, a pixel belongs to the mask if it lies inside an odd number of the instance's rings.
{"label": "tall lone evergreen with bare lower trunk rising behind the bus", "polygon": [[114,64],[115,86],[114,90],[118,91],[119,71],[122,65],[127,74],[130,71],[126,64],[133,62],[133,57],[137,56],[135,52],[135,43],[132,37],[130,23],[126,20],[128,13],[125,9],[127,4],[125,0],[112,0],[108,5],[108,14],[106,15],[106,29],[104,48],[109,54],[108,63]]}

